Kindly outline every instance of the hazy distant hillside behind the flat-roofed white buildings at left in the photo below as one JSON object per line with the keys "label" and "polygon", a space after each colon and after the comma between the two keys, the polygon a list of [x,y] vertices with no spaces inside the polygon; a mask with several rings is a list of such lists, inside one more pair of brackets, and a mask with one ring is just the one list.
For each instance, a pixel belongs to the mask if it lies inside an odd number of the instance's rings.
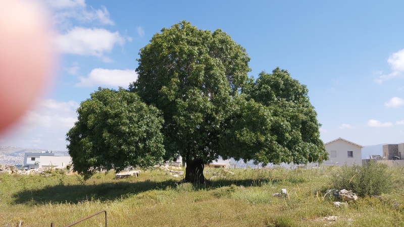
{"label": "hazy distant hillside behind the flat-roofed white buildings at left", "polygon": [[[0,146],[0,164],[23,165],[25,152],[40,153],[45,151],[48,150],[35,149],[35,148],[21,148],[13,146]],[[67,151],[53,151],[53,152],[68,155]]]}

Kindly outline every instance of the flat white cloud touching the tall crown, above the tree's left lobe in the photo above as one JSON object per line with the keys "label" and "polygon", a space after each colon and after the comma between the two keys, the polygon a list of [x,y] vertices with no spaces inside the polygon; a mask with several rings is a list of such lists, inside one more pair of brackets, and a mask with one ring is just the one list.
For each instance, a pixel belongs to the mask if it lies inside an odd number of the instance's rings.
{"label": "flat white cloud touching the tall crown, above the tree's left lobe", "polygon": [[113,86],[128,87],[129,83],[135,81],[137,74],[135,70],[109,70],[109,69],[93,69],[86,78],[80,78],[80,82],[76,86]]}

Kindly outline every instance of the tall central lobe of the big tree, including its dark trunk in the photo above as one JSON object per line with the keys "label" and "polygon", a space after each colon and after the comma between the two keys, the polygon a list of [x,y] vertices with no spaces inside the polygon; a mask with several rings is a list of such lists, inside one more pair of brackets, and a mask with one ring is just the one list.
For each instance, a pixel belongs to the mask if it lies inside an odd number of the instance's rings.
{"label": "tall central lobe of the big tree, including its dark trunk", "polygon": [[221,124],[248,78],[245,49],[220,29],[183,21],[155,34],[139,54],[130,89],[163,111],[166,158],[181,155],[185,180],[204,182],[203,165],[218,158]]}

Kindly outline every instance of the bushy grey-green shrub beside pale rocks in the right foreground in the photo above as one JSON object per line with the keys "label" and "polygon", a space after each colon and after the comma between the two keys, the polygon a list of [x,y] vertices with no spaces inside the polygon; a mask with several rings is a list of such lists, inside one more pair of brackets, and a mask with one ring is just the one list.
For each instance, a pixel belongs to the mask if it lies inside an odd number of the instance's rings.
{"label": "bushy grey-green shrub beside pale rocks in the right foreground", "polygon": [[341,166],[331,177],[333,188],[352,190],[358,196],[377,196],[391,190],[392,178],[382,163],[368,162],[363,166]]}

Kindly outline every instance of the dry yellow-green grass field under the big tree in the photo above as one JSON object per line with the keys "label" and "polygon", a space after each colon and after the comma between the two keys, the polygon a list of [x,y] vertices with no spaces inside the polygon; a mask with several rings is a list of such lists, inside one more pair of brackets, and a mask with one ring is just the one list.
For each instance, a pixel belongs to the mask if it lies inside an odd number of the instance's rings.
{"label": "dry yellow-green grass field under the big tree", "polygon": [[[403,226],[404,171],[388,168],[392,190],[346,207],[325,199],[334,169],[206,168],[210,185],[181,183],[150,170],[115,180],[80,176],[0,175],[0,226],[64,226],[107,210],[109,226]],[[288,196],[272,194],[286,188]],[[337,216],[336,221],[324,219]],[[75,226],[104,226],[99,214]]]}

